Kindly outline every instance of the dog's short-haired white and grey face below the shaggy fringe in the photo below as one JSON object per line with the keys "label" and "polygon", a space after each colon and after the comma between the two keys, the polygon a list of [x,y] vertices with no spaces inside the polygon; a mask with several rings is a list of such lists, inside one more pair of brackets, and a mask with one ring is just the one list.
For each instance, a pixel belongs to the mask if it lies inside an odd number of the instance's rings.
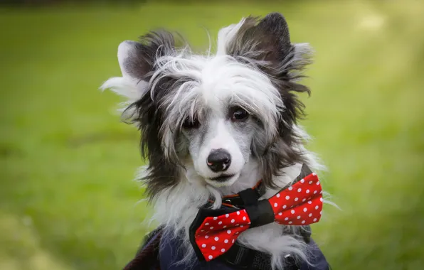
{"label": "dog's short-haired white and grey face below the shaggy fringe", "polygon": [[211,185],[231,185],[250,157],[258,123],[235,104],[217,102],[200,122],[187,120],[182,134],[196,173]]}

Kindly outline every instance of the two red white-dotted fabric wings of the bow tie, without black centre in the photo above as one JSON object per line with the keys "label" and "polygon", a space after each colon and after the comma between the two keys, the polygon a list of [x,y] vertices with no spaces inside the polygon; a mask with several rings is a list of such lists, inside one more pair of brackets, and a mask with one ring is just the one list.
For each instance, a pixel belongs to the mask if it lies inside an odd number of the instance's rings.
{"label": "two red white-dotted fabric wings of the bow tie, without black centre", "polygon": [[[318,222],[322,211],[322,187],[311,173],[268,200],[281,225],[309,225]],[[206,217],[196,229],[195,242],[206,261],[215,259],[233,246],[241,232],[250,227],[246,210],[218,217]]]}

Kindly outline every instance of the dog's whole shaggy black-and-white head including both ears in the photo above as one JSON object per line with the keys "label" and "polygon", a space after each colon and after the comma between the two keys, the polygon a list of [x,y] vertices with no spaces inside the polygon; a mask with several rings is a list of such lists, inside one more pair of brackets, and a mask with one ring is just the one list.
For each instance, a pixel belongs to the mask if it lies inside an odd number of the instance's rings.
{"label": "dog's whole shaggy black-and-white head including both ears", "polygon": [[303,161],[295,93],[309,92],[297,83],[309,47],[290,42],[282,15],[221,29],[214,55],[179,42],[159,31],[121,43],[122,77],[103,85],[129,98],[124,113],[142,134],[149,195],[176,185],[188,166],[204,183],[229,186],[257,158],[272,186],[272,175]]}

